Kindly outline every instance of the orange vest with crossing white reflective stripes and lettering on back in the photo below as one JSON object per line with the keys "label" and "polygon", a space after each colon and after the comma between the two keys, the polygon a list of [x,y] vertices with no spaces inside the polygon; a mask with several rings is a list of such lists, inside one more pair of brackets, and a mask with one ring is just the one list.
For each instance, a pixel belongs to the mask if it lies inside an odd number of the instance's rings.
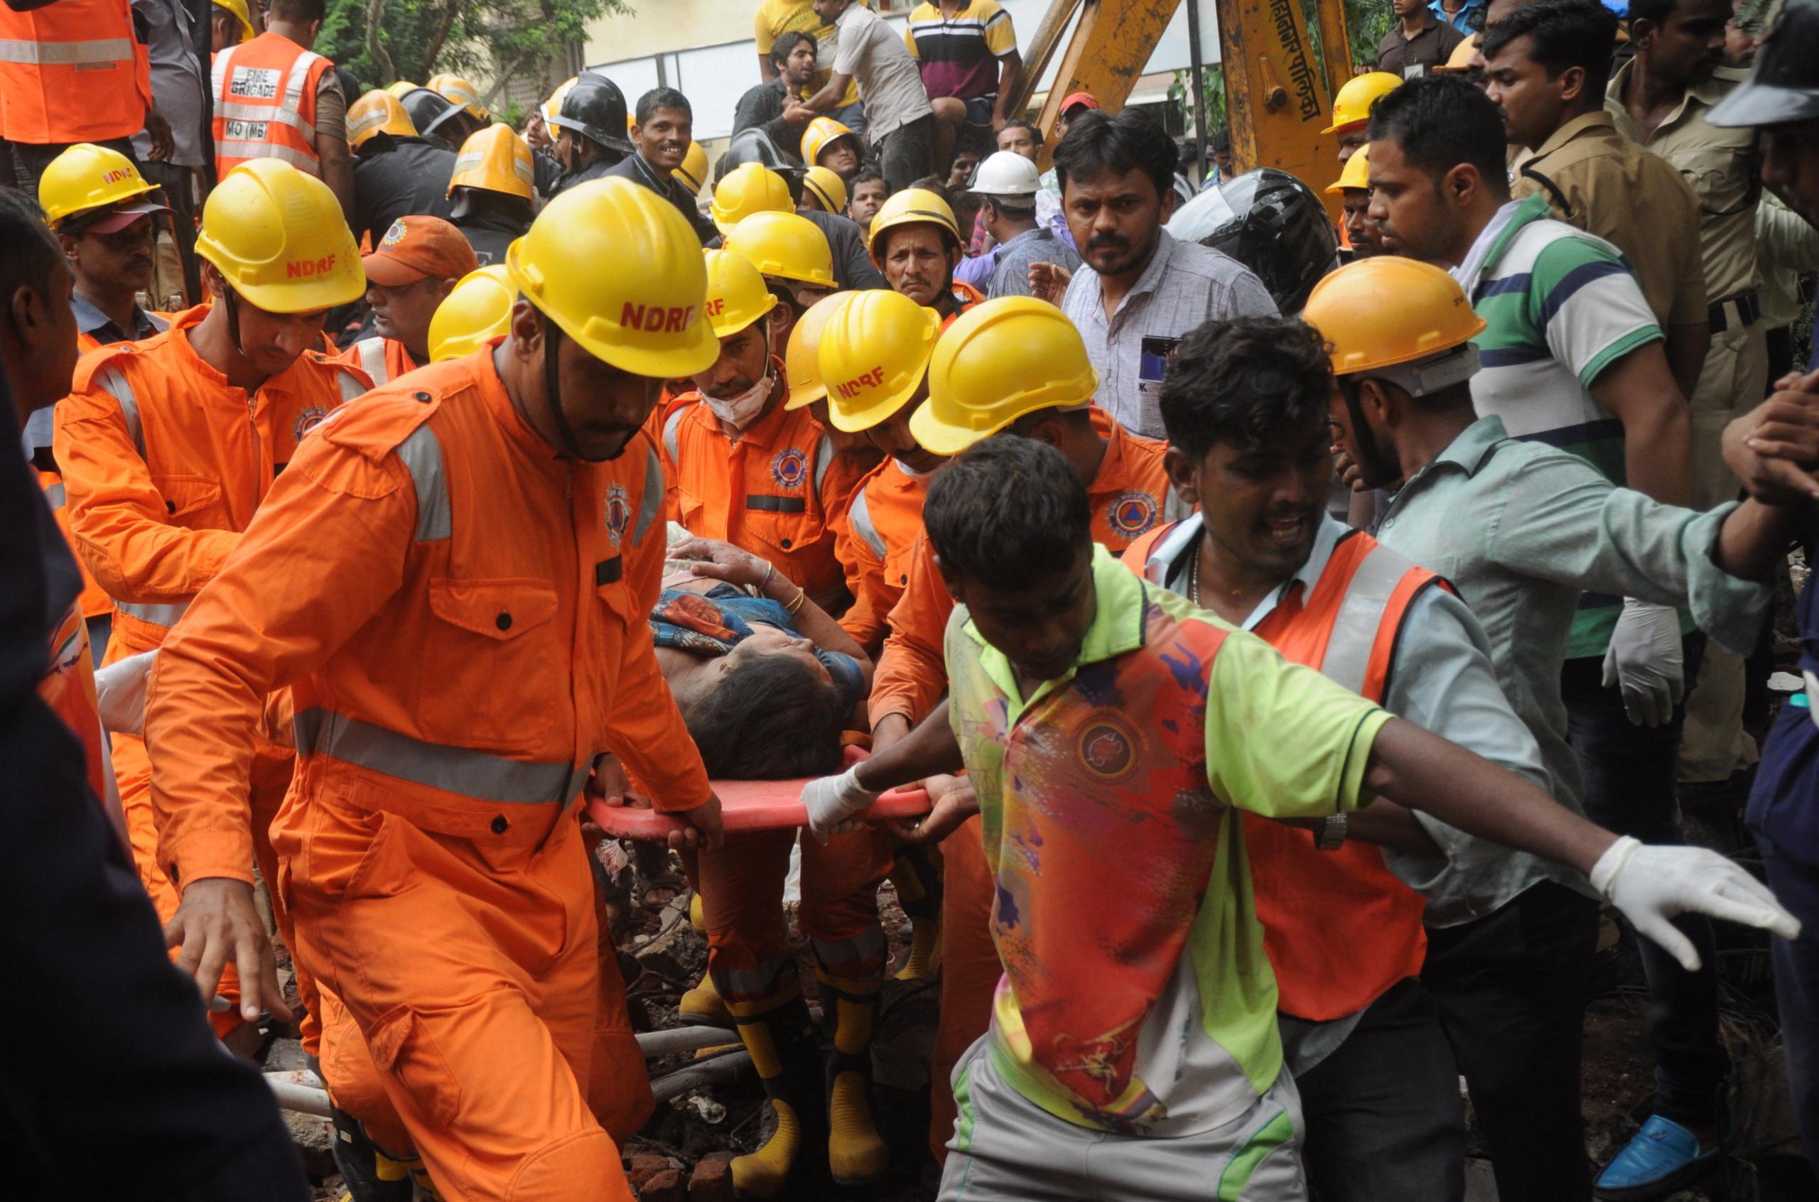
{"label": "orange vest with crossing white reflective stripes and lettering on back", "polygon": [[271,31],[215,55],[215,175],[278,158],[320,178],[317,85],[333,67]]}

